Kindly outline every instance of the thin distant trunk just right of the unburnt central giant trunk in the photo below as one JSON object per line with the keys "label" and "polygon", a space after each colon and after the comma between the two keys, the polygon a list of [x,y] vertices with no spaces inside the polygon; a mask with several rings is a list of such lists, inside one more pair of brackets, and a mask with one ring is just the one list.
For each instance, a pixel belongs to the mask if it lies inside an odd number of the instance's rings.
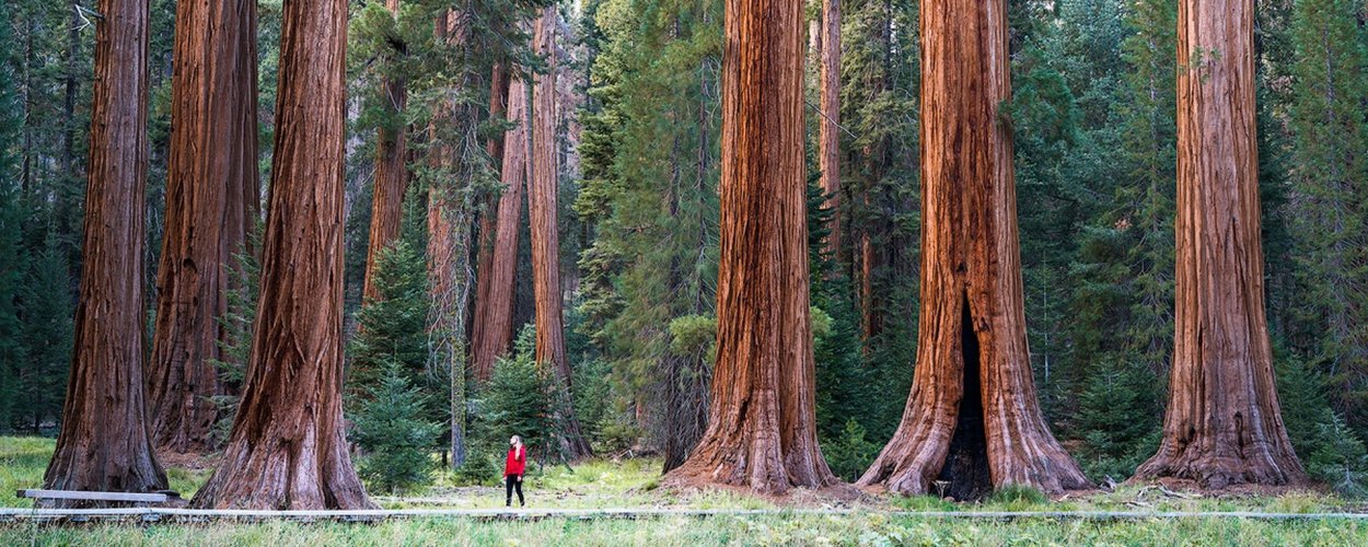
{"label": "thin distant trunk just right of the unburnt central giant trunk", "polygon": [[830,234],[826,252],[836,257],[841,246],[841,0],[822,0],[822,119],[818,129],[818,161],[822,170],[822,191],[826,208],[832,209]]}

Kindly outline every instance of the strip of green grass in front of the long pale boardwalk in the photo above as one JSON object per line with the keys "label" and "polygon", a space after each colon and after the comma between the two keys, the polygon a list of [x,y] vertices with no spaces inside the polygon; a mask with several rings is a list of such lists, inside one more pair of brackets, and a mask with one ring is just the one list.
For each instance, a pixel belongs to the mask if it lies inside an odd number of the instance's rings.
{"label": "strip of green grass in front of the long pale boardwalk", "polygon": [[1041,518],[949,521],[860,516],[668,517],[653,520],[475,521],[402,520],[380,524],[259,522],[211,525],[0,525],[0,544],[141,546],[196,544],[272,547],[323,544],[456,546],[1034,546],[1202,544],[1361,546],[1368,525],[1357,521],[1261,522],[1244,520],[1150,520],[1081,522]]}

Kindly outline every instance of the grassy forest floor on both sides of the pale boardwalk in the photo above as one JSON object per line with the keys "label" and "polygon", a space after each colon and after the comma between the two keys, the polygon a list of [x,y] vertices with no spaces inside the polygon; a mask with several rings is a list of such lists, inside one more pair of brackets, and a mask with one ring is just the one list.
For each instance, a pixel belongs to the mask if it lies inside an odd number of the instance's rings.
{"label": "grassy forest floor on both sides of the pale boardwalk", "polygon": [[[0,506],[31,507],[10,492],[34,488],[52,453],[51,439],[0,438]],[[208,479],[202,461],[167,461],[171,488],[186,498]],[[804,492],[766,499],[737,491],[679,492],[658,487],[659,461],[590,461],[573,469],[529,469],[529,509],[773,510],[765,514],[655,514],[644,518],[486,520],[419,517],[375,524],[209,522],[41,525],[0,522],[0,544],[1368,544],[1365,520],[1252,520],[1153,517],[1074,520],[1052,517],[949,518],[897,511],[1259,511],[1364,513],[1368,506],[1317,491],[1233,491],[1198,495],[1155,485],[1123,485],[1049,501],[1010,495],[978,503],[933,496],[824,496]],[[447,473],[421,492],[375,495],[386,509],[499,509],[503,488],[457,485]],[[792,511],[792,510],[798,511]],[[817,510],[817,511],[813,511]],[[841,510],[822,514],[821,510]]]}

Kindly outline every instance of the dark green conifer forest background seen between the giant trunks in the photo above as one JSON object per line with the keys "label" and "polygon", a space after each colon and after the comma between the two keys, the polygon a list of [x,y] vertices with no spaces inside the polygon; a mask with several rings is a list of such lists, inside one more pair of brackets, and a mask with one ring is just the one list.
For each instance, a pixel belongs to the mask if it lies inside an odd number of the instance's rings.
{"label": "dark green conifer forest background seen between the giant trunks", "polygon": [[[263,182],[279,1],[259,3]],[[150,4],[149,325],[175,31],[174,0]],[[360,57],[373,36],[367,3],[352,4],[347,332],[373,321],[364,330],[372,342],[402,339],[376,331],[412,316],[421,297],[358,313],[373,129],[383,122],[367,100],[376,75]],[[1120,480],[1157,446],[1172,345],[1176,7],[1011,0],[1010,10],[1005,111],[1031,365],[1055,433],[1089,476]],[[575,410],[598,451],[658,450],[688,423],[670,416],[688,412],[679,397],[706,398],[722,4],[586,0],[561,12],[558,217]],[[67,1],[0,4],[0,431],[51,435],[60,418],[81,272],[93,16]],[[847,480],[897,425],[915,356],[917,18],[914,0],[844,3],[840,211],[824,209],[817,187],[817,64],[808,63],[818,438]],[[1254,41],[1264,287],[1283,417],[1309,470],[1353,490],[1368,464],[1360,442],[1368,438],[1368,4],[1259,0]],[[843,245],[830,253],[821,238],[833,219]],[[406,252],[390,254],[382,290],[417,279],[409,293],[421,294],[421,230],[405,234]],[[520,238],[517,325],[534,315],[528,239]],[[525,388],[516,371],[532,369],[528,336],[486,391],[472,392],[484,401],[479,416]],[[365,343],[353,338],[353,360],[365,358]],[[423,386],[416,377],[412,388]],[[431,390],[445,397],[440,382]]]}

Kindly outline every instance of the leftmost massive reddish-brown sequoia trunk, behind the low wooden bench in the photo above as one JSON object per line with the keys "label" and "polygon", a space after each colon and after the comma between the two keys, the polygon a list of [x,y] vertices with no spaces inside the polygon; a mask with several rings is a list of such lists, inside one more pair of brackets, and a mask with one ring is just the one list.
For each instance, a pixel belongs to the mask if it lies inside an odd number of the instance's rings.
{"label": "leftmost massive reddish-brown sequoia trunk, behind the low wooden bench", "polygon": [[148,4],[101,0],[75,349],[45,488],[167,487],[142,399]]}

